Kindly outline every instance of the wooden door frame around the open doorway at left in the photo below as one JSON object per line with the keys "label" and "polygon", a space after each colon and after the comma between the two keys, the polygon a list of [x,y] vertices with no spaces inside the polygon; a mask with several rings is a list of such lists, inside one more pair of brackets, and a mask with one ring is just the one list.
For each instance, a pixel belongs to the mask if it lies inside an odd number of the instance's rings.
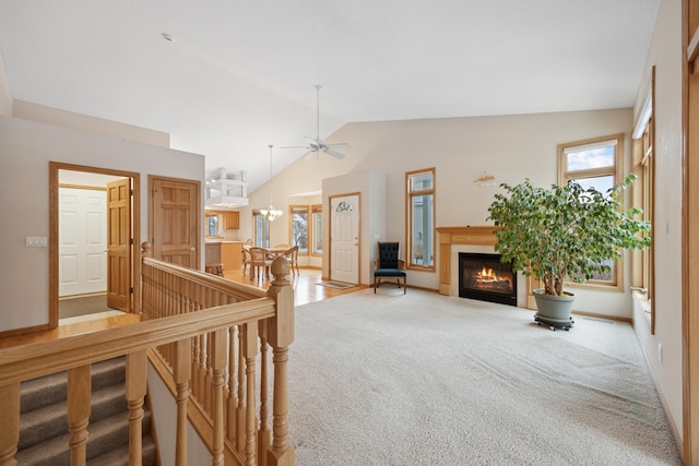
{"label": "wooden door frame around the open doorway at left", "polygon": [[141,309],[141,280],[135,279],[140,275],[141,255],[141,225],[140,225],[140,174],[133,171],[117,170],[111,168],[91,167],[86,165],[66,164],[62,162],[48,163],[48,326],[49,328],[58,327],[58,236],[59,236],[59,215],[58,215],[58,188],[59,188],[59,170],[86,171],[90,174],[110,175],[115,177],[131,178],[133,189],[133,210],[132,230],[133,244],[131,246],[131,283],[133,284],[133,294],[131,295],[131,312],[140,313]]}

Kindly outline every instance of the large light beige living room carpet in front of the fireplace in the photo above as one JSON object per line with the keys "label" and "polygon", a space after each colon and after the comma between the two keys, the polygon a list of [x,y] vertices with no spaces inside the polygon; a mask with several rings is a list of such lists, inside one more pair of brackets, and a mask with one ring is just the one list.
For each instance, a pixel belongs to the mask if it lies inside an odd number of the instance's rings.
{"label": "large light beige living room carpet in front of the fireplace", "polygon": [[370,289],[301,306],[297,464],[680,465],[629,324]]}

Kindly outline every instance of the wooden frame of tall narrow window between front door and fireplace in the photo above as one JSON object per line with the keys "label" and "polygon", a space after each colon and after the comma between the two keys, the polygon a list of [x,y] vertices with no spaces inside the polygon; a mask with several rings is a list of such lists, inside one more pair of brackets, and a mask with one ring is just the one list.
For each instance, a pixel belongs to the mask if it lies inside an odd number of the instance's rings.
{"label": "wooden frame of tall narrow window between front door and fireplace", "polygon": [[[430,174],[433,178],[431,188],[429,189],[419,189],[413,190],[411,180],[419,175]],[[414,261],[413,251],[415,250],[414,243],[415,239],[413,238],[413,199],[417,196],[431,195],[431,218],[429,228],[429,238],[425,238],[423,240],[424,244],[429,244],[429,248],[423,249],[423,255],[425,249],[427,252],[431,252],[429,255],[431,258],[431,263],[429,265],[424,265],[416,263]],[[436,254],[436,235],[435,235],[435,225],[436,225],[436,215],[437,212],[437,170],[435,167],[423,168],[419,170],[412,170],[405,172],[405,267],[407,270],[413,271],[422,271],[422,272],[436,272],[437,271],[437,254]]]}

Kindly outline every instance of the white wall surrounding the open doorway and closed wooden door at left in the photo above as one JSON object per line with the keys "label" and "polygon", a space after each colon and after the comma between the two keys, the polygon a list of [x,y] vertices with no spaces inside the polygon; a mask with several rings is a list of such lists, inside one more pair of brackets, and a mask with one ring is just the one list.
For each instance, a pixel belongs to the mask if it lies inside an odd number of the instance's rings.
{"label": "white wall surrounding the open doorway and closed wooden door at left", "polygon": [[[48,237],[48,163],[141,174],[141,240],[147,235],[147,175],[200,180],[204,157],[0,117],[0,332],[48,323],[48,248],[26,248],[25,237]],[[203,212],[203,200],[201,205]],[[203,228],[201,231],[203,244]],[[202,252],[203,255],[203,252]],[[202,262],[203,263],[203,262]]]}

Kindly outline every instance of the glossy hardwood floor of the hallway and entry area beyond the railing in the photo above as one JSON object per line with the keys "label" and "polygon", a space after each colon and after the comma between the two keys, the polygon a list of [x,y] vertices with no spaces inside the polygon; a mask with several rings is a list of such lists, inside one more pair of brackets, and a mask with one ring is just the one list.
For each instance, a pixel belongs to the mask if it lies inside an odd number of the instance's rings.
{"label": "glossy hardwood floor of the hallway and entry area beyond the railing", "polygon": [[[323,299],[333,298],[335,296],[345,295],[347,292],[358,291],[367,288],[366,285],[359,285],[347,289],[335,289],[325,286],[316,285],[321,280],[321,271],[316,268],[301,268],[300,273],[293,277],[294,287],[294,304],[296,307],[308,302],[322,301]],[[268,289],[271,279],[266,277],[250,278],[249,275],[242,275],[242,271],[226,272],[224,277],[233,282],[245,283],[247,285],[259,286]],[[32,332],[24,335],[8,336],[0,338],[0,349],[12,346],[27,345],[36,342],[46,342],[49,339],[66,338],[83,333],[96,332],[98,330],[114,328],[140,321],[140,315],[121,314],[112,315],[114,312],[105,314],[92,314],[84,319],[69,319],[59,321],[58,328],[43,332]]]}

